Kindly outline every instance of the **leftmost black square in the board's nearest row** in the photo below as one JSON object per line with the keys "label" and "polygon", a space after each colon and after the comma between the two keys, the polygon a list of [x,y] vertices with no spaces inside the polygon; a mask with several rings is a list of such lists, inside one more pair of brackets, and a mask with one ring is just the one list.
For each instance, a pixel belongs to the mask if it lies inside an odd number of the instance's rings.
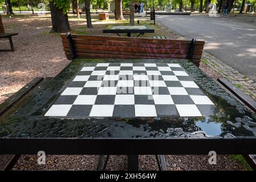
{"label": "leftmost black square in the board's nearest row", "polygon": [[92,109],[92,105],[72,105],[67,116],[72,117],[87,117]]}

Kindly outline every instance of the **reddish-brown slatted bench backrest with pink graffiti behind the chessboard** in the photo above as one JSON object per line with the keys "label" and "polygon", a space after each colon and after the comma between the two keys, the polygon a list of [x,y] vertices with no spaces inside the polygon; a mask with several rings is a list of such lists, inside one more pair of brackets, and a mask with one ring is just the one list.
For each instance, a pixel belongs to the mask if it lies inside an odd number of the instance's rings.
{"label": "reddish-brown slatted bench backrest with pink graffiti behind the chessboard", "polygon": [[61,34],[69,60],[80,58],[189,59],[199,66],[204,41]]}

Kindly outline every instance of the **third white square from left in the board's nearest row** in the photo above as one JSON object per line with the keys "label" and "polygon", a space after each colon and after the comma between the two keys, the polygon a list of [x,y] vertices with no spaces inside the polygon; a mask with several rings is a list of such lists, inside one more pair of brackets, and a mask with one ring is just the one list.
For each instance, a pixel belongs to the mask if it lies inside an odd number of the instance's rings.
{"label": "third white square from left in the board's nearest row", "polygon": [[135,105],[135,117],[156,117],[155,105]]}

